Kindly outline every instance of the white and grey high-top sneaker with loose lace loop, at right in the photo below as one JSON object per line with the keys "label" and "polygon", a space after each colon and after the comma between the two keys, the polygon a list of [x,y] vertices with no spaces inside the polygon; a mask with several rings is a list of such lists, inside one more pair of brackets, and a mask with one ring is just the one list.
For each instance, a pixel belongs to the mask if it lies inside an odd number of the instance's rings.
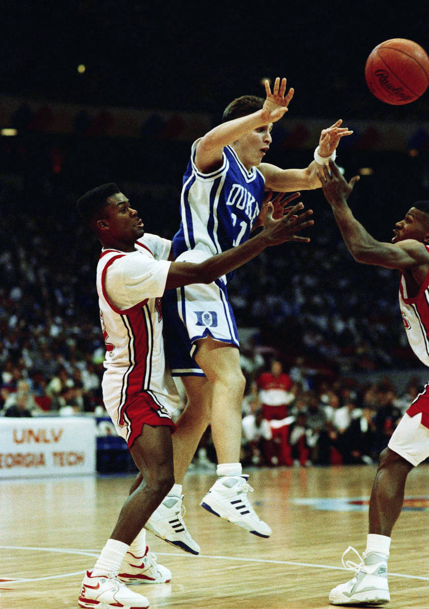
{"label": "white and grey high-top sneaker with loose lace loop, at right", "polygon": [[[344,561],[347,552],[357,554],[360,563],[351,560]],[[346,569],[355,571],[353,579],[341,583],[329,593],[331,605],[384,605],[390,600],[387,582],[387,557],[382,554],[360,554],[354,547],[347,547],[341,562]]]}

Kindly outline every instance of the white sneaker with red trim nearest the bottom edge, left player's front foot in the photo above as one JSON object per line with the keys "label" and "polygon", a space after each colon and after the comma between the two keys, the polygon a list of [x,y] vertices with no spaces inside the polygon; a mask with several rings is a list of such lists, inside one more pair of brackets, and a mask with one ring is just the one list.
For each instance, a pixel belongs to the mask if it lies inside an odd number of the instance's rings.
{"label": "white sneaker with red trim nearest the bottom edge, left player's front foot", "polygon": [[86,571],[78,604],[85,609],[148,609],[149,601],[145,596],[133,592],[117,578],[116,573],[93,576],[92,571]]}

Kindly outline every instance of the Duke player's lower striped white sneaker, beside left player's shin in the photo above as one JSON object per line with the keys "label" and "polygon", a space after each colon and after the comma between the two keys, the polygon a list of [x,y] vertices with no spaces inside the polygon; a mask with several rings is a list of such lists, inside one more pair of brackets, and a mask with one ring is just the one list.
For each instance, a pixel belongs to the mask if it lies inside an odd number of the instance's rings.
{"label": "Duke player's lower striped white sneaker, beside left player's shin", "polygon": [[184,552],[200,554],[200,546],[190,537],[182,516],[185,513],[180,497],[167,496],[145,524],[145,529]]}

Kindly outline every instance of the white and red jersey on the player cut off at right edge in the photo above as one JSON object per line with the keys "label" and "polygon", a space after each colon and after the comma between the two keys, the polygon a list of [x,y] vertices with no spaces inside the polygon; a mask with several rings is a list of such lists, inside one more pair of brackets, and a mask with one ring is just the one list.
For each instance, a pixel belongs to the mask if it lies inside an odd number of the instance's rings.
{"label": "white and red jersey on the player cut off at right edge", "polygon": [[[429,252],[429,246],[426,246]],[[399,306],[406,337],[416,356],[429,366],[429,273],[414,298],[407,297],[405,277],[400,273]]]}

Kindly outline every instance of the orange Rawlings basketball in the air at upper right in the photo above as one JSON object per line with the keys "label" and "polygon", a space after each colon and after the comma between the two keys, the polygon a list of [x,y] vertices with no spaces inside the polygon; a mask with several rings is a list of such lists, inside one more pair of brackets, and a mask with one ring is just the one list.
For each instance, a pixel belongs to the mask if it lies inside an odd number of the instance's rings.
{"label": "orange Rawlings basketball in the air at upper right", "polygon": [[378,44],[365,64],[365,80],[375,97],[386,104],[410,104],[429,85],[429,57],[422,47],[405,38]]}

